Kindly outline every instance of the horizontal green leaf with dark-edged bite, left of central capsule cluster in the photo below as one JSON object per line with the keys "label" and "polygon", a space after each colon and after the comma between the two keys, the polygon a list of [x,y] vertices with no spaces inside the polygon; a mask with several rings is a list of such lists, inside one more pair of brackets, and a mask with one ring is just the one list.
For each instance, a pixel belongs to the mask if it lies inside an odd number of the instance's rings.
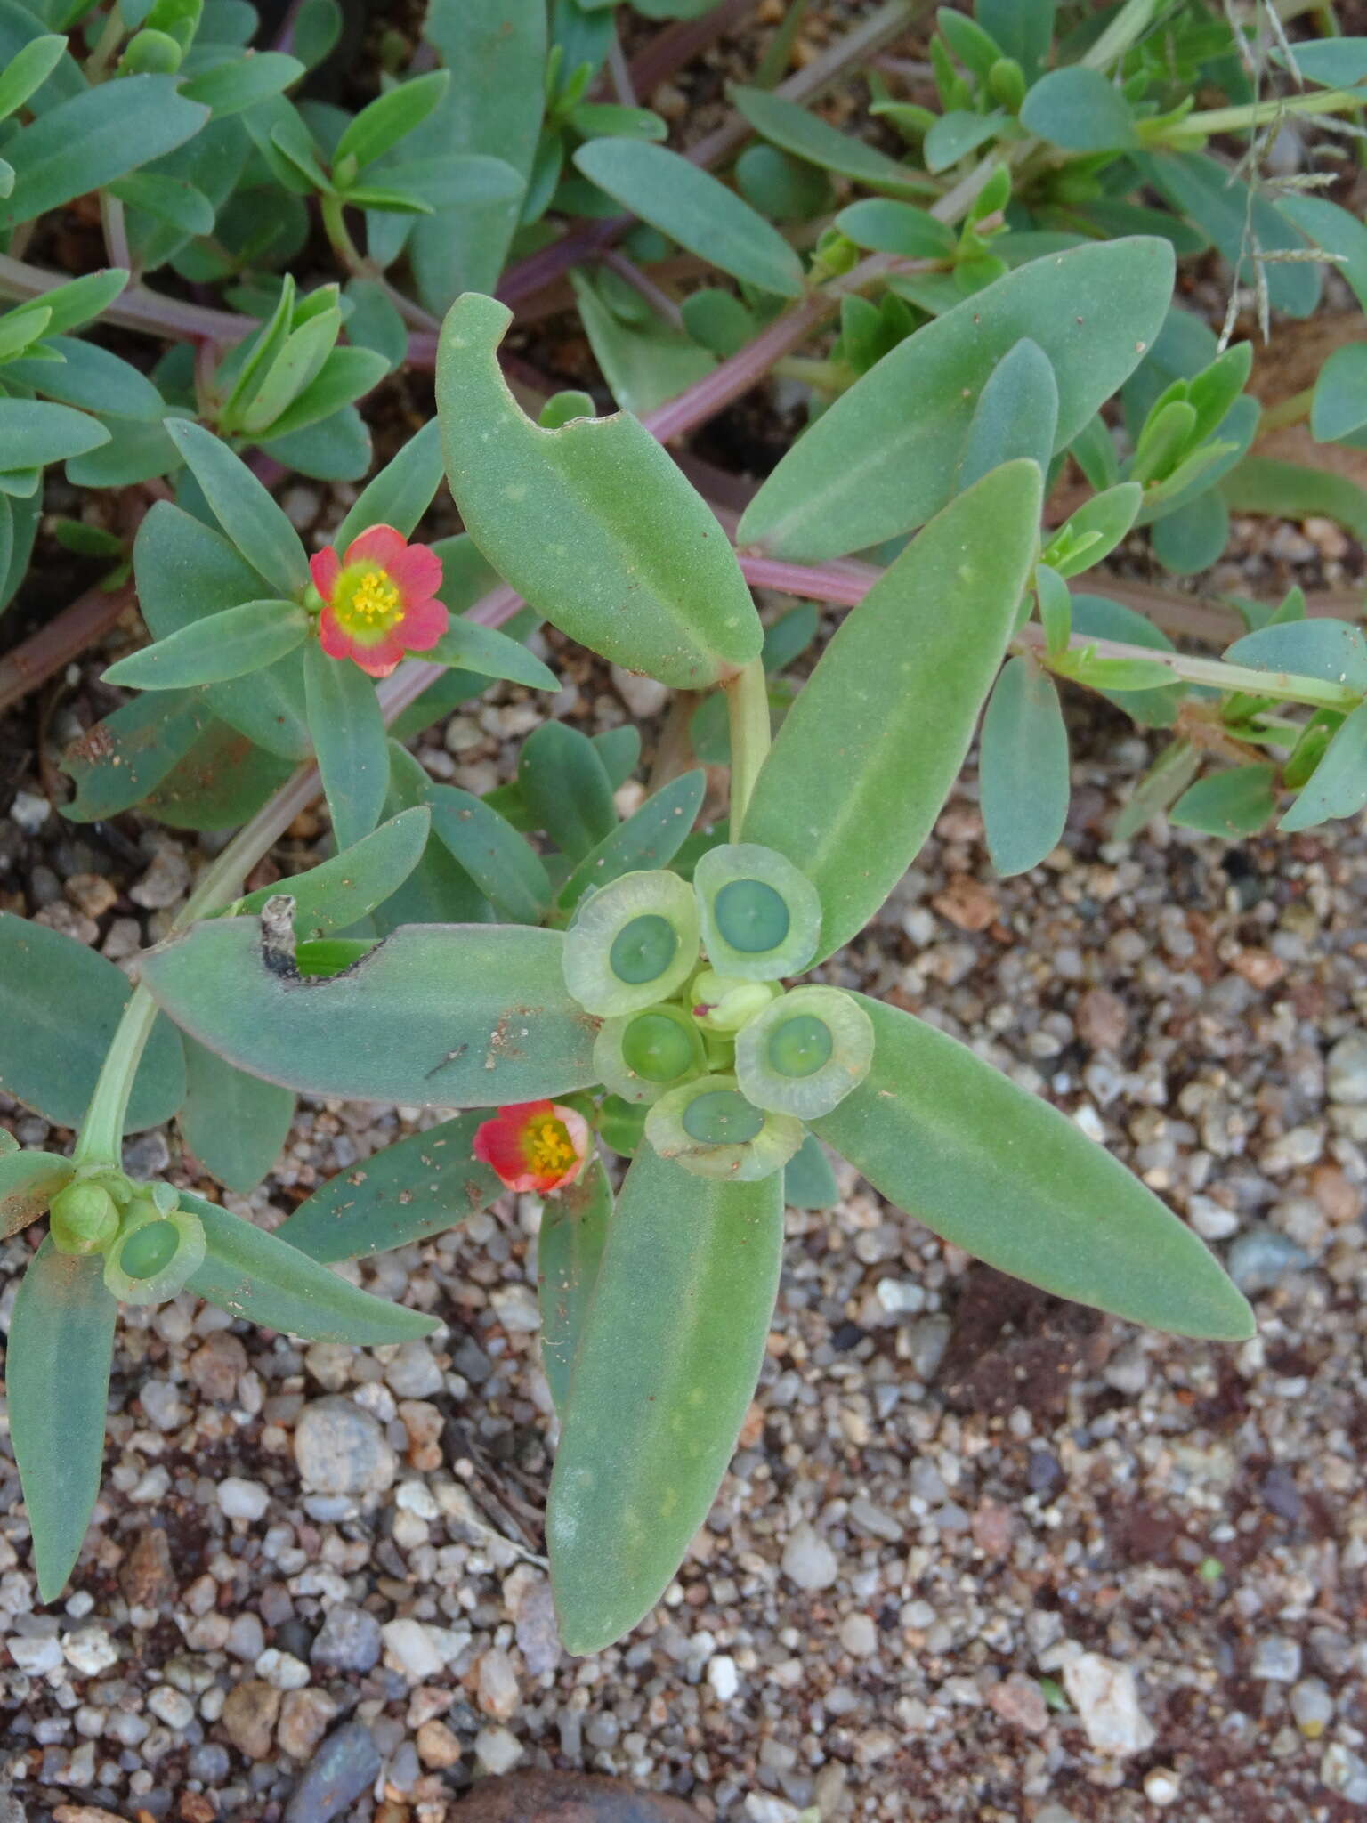
{"label": "horizontal green leaf with dark-edged bite, left of central capsule cluster", "polygon": [[191,1037],[272,1083],[498,1107],[594,1081],[598,1021],[565,992],[561,944],[527,924],[408,924],[310,981],[255,919],[219,919],[153,950],[142,979]]}

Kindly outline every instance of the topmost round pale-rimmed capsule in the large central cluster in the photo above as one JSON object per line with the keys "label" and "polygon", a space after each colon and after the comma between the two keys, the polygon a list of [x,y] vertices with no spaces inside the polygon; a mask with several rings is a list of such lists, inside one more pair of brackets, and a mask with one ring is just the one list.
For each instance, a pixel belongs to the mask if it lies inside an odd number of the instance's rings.
{"label": "topmost round pale-rimmed capsule in the large central cluster", "polygon": [[718,975],[776,981],[800,975],[817,953],[817,888],[786,855],[758,842],[709,848],[693,870],[702,941]]}

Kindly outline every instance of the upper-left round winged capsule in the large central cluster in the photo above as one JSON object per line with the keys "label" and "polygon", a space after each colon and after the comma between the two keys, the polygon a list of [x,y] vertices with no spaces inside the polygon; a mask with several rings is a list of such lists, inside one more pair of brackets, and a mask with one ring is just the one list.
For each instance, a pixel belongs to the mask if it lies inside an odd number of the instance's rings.
{"label": "upper-left round winged capsule in the large central cluster", "polygon": [[696,963],[696,901],[663,868],[609,881],[580,902],[565,932],[565,986],[607,1019],[667,1001]]}

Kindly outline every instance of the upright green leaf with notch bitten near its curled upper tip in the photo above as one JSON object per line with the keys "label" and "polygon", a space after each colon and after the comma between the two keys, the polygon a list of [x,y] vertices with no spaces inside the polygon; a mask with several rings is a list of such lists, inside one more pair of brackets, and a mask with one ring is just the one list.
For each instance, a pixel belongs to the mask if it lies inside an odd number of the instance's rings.
{"label": "upright green leaf with notch bitten near its curled upper tip", "polygon": [[467,292],[437,355],[447,472],[478,547],[540,614],[629,671],[704,689],[749,664],[760,620],[704,501],[632,417],[530,423],[498,368],[509,321]]}

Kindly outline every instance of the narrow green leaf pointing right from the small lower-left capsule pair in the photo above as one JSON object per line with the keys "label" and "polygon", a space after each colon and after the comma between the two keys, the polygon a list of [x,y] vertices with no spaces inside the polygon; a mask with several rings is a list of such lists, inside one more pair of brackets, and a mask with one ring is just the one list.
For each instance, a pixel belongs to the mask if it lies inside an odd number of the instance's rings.
{"label": "narrow green leaf pointing right from the small lower-left capsule pair", "polygon": [[186,1291],[286,1336],[310,1342],[355,1342],[375,1347],[430,1336],[436,1318],[372,1298],[326,1265],[266,1234],[217,1203],[180,1190],[180,1207],[204,1223],[208,1254],[186,1280]]}

